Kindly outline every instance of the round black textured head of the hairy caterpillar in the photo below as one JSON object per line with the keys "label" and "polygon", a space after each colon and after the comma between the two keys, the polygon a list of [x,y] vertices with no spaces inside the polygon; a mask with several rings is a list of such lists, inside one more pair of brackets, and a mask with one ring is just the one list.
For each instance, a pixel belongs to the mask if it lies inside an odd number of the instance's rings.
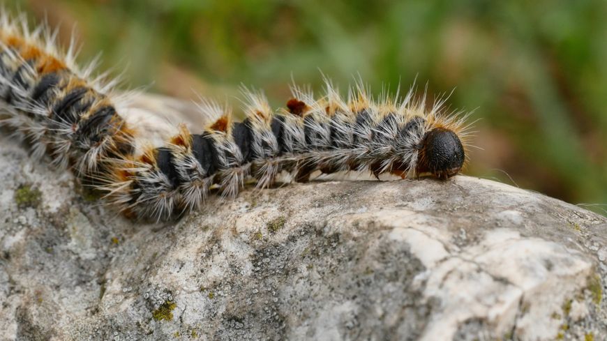
{"label": "round black textured head of the hairy caterpillar", "polygon": [[438,179],[458,174],[464,165],[464,147],[458,135],[449,129],[426,132],[417,158],[417,174],[431,173]]}

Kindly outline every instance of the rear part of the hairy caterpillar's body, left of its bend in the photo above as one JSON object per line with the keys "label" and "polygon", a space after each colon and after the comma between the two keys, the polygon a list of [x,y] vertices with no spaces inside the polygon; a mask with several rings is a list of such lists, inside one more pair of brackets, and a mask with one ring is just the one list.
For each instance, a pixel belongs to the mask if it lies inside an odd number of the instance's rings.
{"label": "rear part of the hairy caterpillar's body, left of its bend", "polygon": [[73,48],[61,54],[55,33],[29,33],[24,20],[0,17],[1,122],[47,153],[57,167],[73,165],[83,176],[113,152],[128,153],[133,132],[124,125],[100,79],[87,80],[73,65]]}

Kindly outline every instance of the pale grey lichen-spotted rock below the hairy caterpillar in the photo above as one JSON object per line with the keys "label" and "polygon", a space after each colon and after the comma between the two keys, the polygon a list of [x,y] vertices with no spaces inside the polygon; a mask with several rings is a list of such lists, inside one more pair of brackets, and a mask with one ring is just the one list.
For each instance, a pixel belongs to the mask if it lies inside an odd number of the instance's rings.
{"label": "pale grey lichen-spotted rock below the hairy caterpillar", "polygon": [[607,219],[468,176],[130,222],[0,141],[0,340],[606,340]]}

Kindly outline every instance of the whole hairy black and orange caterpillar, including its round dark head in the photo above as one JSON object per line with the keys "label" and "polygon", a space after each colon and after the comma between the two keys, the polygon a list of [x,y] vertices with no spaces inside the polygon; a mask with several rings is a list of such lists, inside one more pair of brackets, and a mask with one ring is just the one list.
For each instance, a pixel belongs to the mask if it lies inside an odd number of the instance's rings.
{"label": "whole hairy black and orange caterpillar, including its round dark head", "polygon": [[34,158],[73,169],[133,218],[171,220],[199,209],[213,188],[234,197],[248,179],[268,188],[284,173],[297,182],[315,171],[448,179],[468,156],[468,114],[449,112],[444,98],[428,107],[426,92],[416,99],[412,87],[404,98],[397,91],[375,99],[360,80],[343,98],[327,78],[320,98],[293,85],[279,109],[261,91],[243,89],[240,122],[229,107],[201,99],[205,126],[180,124],[154,142],[121,111],[116,82],[93,78],[95,63],[80,69],[73,41],[61,52],[56,37],[2,11],[0,123]]}

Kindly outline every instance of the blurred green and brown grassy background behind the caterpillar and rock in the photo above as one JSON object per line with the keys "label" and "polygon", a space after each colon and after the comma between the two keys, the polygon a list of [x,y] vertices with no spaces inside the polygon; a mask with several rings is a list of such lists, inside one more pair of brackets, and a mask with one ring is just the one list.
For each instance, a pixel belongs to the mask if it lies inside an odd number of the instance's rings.
{"label": "blurred green and brown grassy background behind the caterpillar and rock", "polygon": [[[11,5],[9,5],[11,7]],[[451,107],[476,109],[466,174],[516,183],[607,212],[607,1],[19,0],[75,27],[80,61],[126,86],[234,107],[240,84],[288,99],[291,77],[376,93],[417,75]],[[509,174],[509,175],[507,175]],[[511,179],[510,179],[511,178]]]}

